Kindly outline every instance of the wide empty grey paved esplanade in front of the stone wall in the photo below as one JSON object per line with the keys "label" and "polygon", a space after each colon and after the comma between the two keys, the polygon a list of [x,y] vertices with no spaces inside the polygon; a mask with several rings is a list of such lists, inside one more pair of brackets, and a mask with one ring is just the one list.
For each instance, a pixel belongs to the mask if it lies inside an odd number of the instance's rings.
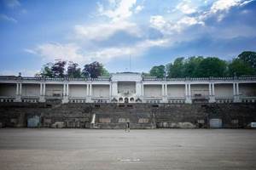
{"label": "wide empty grey paved esplanade in front of the stone wall", "polygon": [[0,129],[0,169],[256,169],[256,130]]}

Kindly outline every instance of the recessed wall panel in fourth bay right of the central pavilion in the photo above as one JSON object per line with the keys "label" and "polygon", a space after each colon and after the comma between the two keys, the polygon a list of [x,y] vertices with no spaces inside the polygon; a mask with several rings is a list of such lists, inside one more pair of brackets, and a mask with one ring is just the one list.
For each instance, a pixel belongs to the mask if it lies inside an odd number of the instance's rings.
{"label": "recessed wall panel in fourth bay right of the central pavilion", "polygon": [[233,98],[233,84],[214,84],[216,98]]}

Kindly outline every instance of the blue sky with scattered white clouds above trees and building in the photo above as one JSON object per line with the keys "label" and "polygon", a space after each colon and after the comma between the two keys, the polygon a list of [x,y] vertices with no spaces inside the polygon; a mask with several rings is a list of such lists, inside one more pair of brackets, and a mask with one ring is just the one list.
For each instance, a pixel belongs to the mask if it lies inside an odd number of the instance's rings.
{"label": "blue sky with scattered white clouds above trees and building", "polygon": [[256,51],[255,0],[0,0],[0,75],[55,59],[110,72]]}

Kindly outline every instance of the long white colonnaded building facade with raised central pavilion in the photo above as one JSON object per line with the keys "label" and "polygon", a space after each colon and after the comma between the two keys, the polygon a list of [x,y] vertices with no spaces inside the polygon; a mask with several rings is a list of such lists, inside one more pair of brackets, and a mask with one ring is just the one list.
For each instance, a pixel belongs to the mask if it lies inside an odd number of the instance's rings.
{"label": "long white colonnaded building facade with raised central pavilion", "polygon": [[165,78],[123,72],[111,77],[0,77],[0,102],[256,102],[256,77]]}

